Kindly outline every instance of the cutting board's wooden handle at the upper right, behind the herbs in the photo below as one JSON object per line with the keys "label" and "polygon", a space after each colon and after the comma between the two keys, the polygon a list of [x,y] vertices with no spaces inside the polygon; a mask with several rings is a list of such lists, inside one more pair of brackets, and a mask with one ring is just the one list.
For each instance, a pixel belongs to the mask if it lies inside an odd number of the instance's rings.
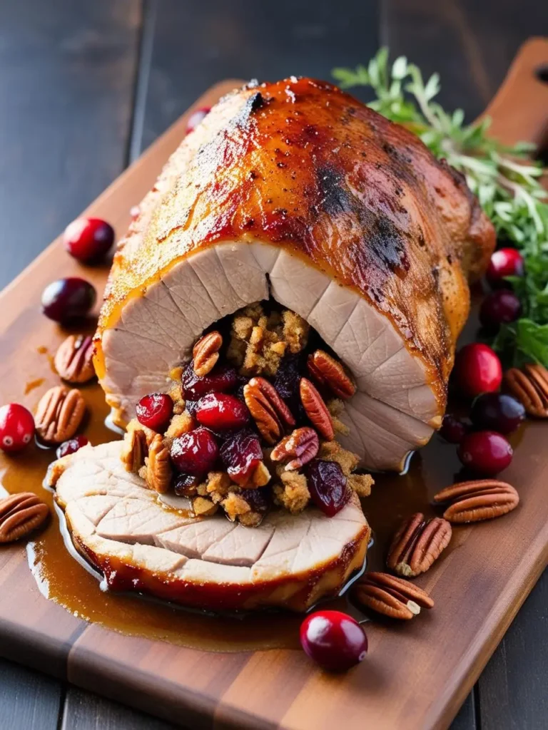
{"label": "cutting board's wooden handle at the upper right, behind the herbs", "polygon": [[548,38],[522,45],[485,115],[492,119],[492,137],[506,145],[548,145]]}

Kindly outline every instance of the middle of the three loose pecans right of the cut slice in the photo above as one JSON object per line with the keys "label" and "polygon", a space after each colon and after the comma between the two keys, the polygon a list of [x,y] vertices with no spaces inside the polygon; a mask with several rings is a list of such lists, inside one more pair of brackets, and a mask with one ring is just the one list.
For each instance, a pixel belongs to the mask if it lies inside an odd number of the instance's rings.
{"label": "middle of the three loose pecans right of the cut slice", "polygon": [[387,566],[398,575],[414,577],[424,573],[449,545],[451,525],[441,517],[427,520],[416,512],[405,520],[392,539]]}

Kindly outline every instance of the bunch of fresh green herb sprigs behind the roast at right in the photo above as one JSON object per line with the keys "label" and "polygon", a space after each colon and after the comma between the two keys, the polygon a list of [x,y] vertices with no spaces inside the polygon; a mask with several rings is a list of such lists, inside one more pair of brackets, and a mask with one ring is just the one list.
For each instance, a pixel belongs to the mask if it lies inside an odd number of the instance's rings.
{"label": "bunch of fresh green herb sprigs behind the roast at right", "polygon": [[492,344],[514,364],[548,366],[548,193],[540,183],[541,164],[530,160],[535,145],[502,145],[488,136],[488,118],[465,124],[463,110],[448,114],[434,101],[438,74],[424,82],[403,56],[389,64],[387,48],[368,66],[334,69],[333,76],[342,88],[372,88],[372,109],[414,131],[436,157],[463,172],[498,239],[521,250],[525,276],[513,277],[512,285],[522,317],[503,326]]}

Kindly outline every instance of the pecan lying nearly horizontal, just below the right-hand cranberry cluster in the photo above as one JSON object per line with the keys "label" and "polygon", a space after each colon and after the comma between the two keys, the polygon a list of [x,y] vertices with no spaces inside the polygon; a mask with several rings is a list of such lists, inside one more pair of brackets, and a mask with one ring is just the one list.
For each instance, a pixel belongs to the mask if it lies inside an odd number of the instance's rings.
{"label": "pecan lying nearly horizontal, just below the right-hand cranberry cluster", "polygon": [[492,520],[515,510],[520,495],[511,484],[479,479],[446,487],[434,495],[434,502],[449,503],[444,518],[452,523]]}

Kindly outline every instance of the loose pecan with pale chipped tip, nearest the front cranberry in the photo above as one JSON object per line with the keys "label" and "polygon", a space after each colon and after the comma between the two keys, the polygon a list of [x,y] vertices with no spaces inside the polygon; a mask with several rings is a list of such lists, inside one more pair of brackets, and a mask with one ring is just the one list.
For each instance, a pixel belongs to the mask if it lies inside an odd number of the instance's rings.
{"label": "loose pecan with pale chipped tip, nearest the front cranberry", "polygon": [[352,588],[354,599],[390,618],[409,621],[434,602],[422,588],[388,573],[364,573]]}

